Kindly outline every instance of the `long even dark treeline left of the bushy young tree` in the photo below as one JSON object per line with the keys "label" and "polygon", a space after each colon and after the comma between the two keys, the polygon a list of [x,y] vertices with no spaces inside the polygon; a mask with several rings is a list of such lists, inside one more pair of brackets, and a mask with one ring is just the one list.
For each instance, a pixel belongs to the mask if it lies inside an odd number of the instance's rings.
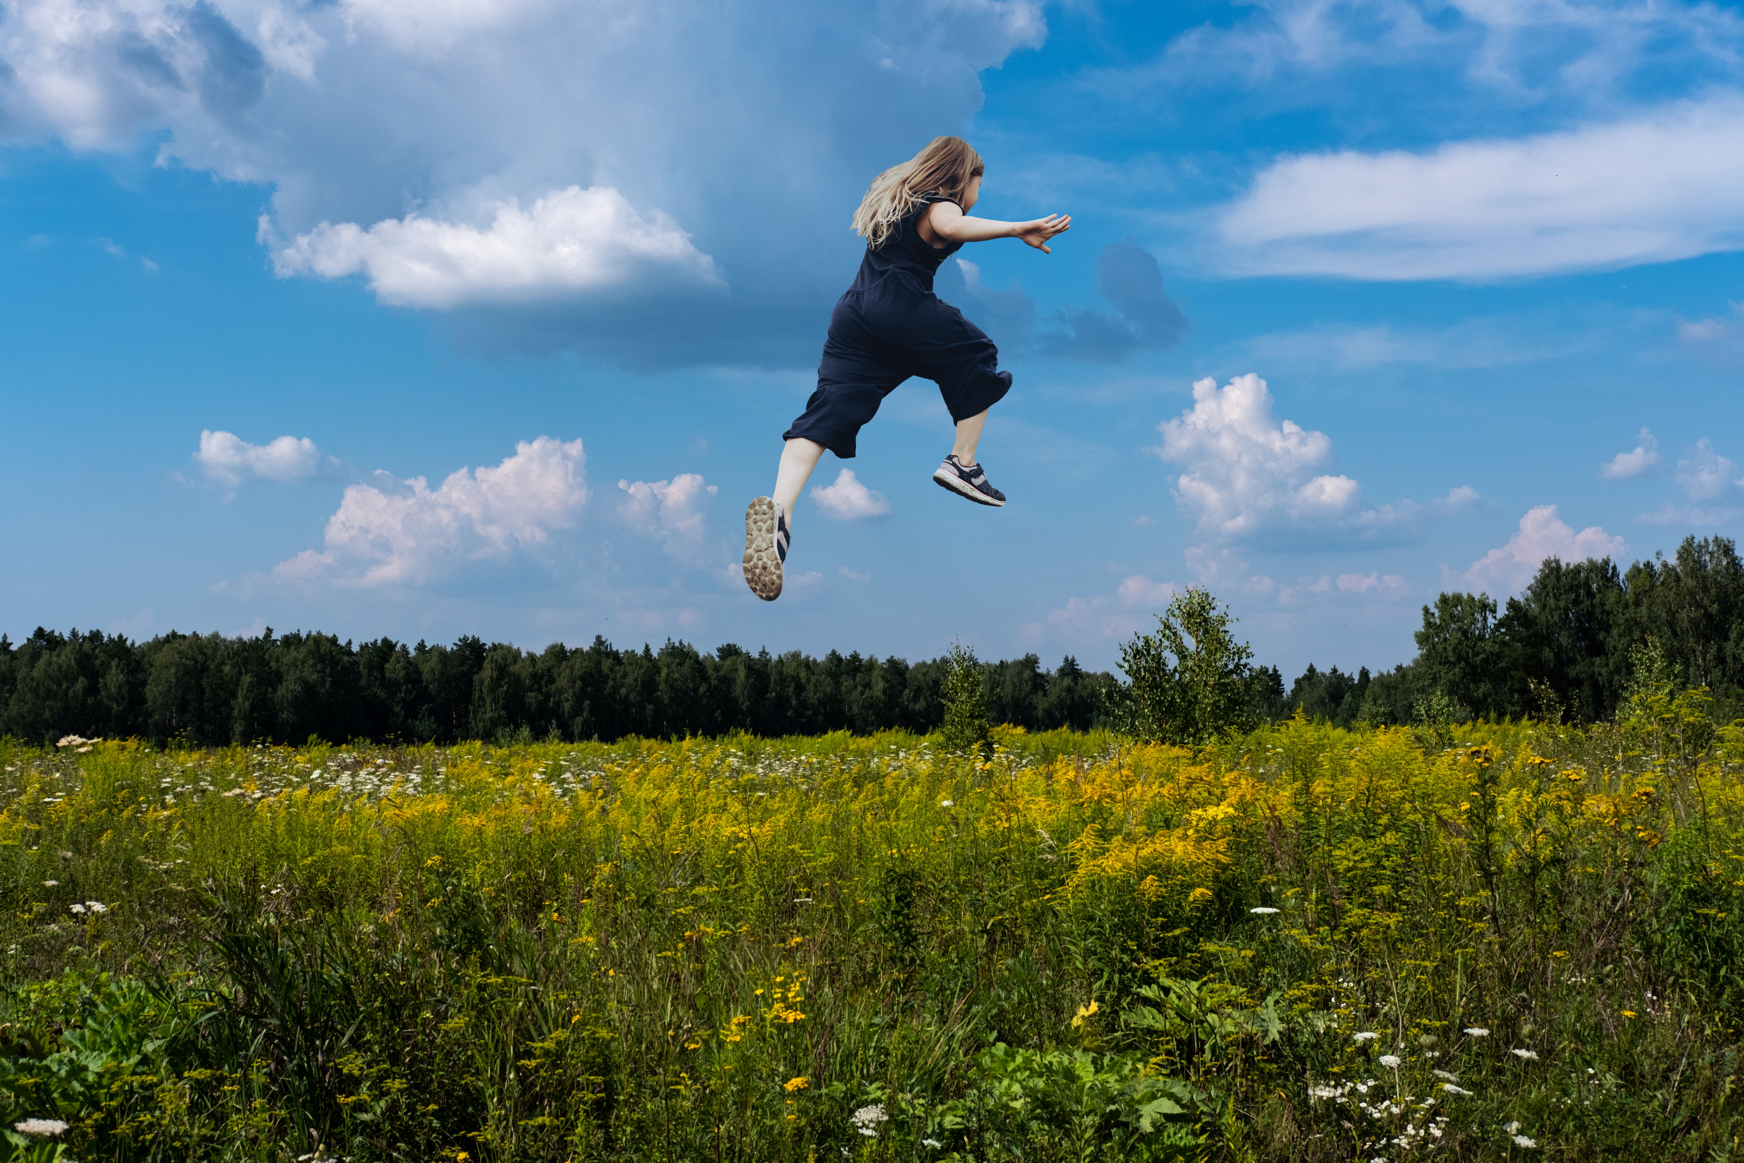
{"label": "long even dark treeline left of the bushy young tree", "polygon": [[[169,633],[129,642],[101,631],[0,636],[0,736],[185,739],[199,745],[457,739],[760,736],[944,720],[947,661],[713,654],[684,642],[617,650],[605,638],[532,652],[460,638],[452,647],[270,629],[255,638]],[[1100,722],[1107,673],[1034,654],[982,666],[994,722],[1031,731]]]}

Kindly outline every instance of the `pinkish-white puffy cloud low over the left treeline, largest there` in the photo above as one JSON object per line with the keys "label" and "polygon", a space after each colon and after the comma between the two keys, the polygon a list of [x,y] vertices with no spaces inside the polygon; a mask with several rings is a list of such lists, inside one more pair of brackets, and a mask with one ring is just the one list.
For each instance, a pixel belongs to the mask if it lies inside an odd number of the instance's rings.
{"label": "pinkish-white puffy cloud low over the left treeline, largest there", "polygon": [[281,561],[279,581],[420,586],[466,561],[508,560],[551,542],[588,500],[581,441],[541,436],[495,467],[459,469],[431,488],[422,476],[377,473],[351,485],[328,518],[326,547]]}

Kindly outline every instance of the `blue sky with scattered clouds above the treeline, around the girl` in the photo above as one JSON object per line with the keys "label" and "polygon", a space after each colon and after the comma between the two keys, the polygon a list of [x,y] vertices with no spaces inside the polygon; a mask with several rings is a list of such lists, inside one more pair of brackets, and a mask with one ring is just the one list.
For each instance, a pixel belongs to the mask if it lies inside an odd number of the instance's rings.
{"label": "blue sky with scattered clouds above the treeline, around the girl", "polygon": [[[940,133],[1074,216],[940,275],[1012,504],[910,382],[766,605],[848,218]],[[0,629],[1111,666],[1209,584],[1390,666],[1744,530],[1741,146],[1721,3],[0,0]]]}

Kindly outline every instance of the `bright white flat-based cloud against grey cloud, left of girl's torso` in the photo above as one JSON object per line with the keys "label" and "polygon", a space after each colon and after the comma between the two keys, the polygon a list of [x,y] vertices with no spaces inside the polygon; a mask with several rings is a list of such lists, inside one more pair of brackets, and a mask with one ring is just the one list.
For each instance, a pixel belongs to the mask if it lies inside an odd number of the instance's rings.
{"label": "bright white flat-based cloud against grey cloud, left of girl's torso", "polygon": [[[267,228],[267,223],[262,223]],[[530,209],[509,199],[490,227],[406,214],[373,227],[321,223],[274,251],[279,277],[363,274],[384,303],[525,303],[628,284],[719,286],[691,235],[607,187],[569,187]]]}

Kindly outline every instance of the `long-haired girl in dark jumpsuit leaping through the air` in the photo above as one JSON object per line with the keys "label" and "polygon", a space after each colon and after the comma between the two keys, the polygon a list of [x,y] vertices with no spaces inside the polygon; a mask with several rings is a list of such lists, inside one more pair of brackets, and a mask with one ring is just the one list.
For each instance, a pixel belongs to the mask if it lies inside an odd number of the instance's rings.
{"label": "long-haired girl in dark jumpsuit leaping through the air", "polygon": [[999,371],[999,350],[963,312],[933,295],[933,272],[964,242],[1024,239],[1045,255],[1048,239],[1067,230],[1069,216],[1034,221],[970,218],[985,166],[963,138],[933,143],[902,166],[881,173],[855,211],[867,241],[860,274],[830,316],[830,337],[818,366],[818,391],[781,434],[774,497],[745,511],[745,584],[764,602],[781,596],[794,506],[828,448],[844,460],[855,436],[877,406],[910,375],[938,384],[957,425],[956,446],[933,479],[977,504],[1003,506],[975,462],[987,408],[1012,391]]}

